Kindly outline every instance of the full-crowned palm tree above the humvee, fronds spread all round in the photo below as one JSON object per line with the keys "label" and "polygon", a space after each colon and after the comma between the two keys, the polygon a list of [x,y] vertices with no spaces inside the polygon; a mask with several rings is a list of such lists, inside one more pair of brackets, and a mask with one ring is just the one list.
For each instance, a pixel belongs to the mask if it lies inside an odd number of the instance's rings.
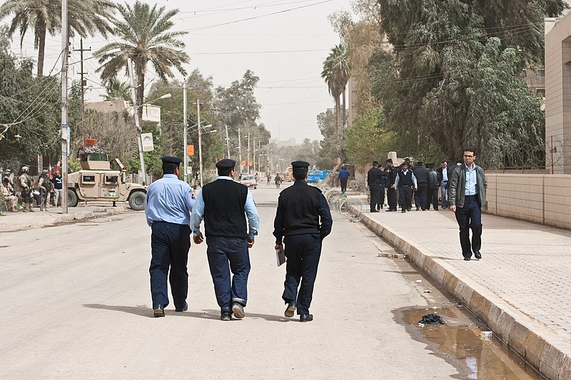
{"label": "full-crowned palm tree above the humvee, fronds spread all round", "polygon": [[[101,72],[103,83],[111,83],[123,69],[127,73],[127,59],[131,58],[137,78],[137,104],[143,104],[145,73],[149,61],[163,81],[174,77],[172,66],[183,76],[186,75],[183,64],[188,63],[190,58],[183,51],[185,44],[178,37],[187,32],[168,31],[174,25],[171,19],[178,14],[178,9],[165,11],[164,6],[157,8],[156,4],[151,8],[138,0],[133,6],[128,3],[125,6],[117,5],[117,9],[122,20],[114,21],[114,34],[123,41],[108,43],[94,53],[101,56],[101,67],[97,72]],[[117,49],[120,52],[114,53]],[[138,112],[141,116],[143,108],[138,108]]]}

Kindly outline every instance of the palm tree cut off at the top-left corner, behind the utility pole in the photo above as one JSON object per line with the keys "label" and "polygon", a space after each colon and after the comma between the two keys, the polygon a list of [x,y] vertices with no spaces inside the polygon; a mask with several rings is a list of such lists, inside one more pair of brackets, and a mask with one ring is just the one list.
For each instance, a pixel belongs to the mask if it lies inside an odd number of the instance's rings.
{"label": "palm tree cut off at the top-left corner, behind the utility pole", "polygon": [[[113,20],[111,0],[68,0],[69,36],[106,37],[111,32],[108,21]],[[34,48],[38,49],[38,76],[44,74],[46,34],[61,31],[61,0],[6,0],[0,6],[0,19],[13,15],[9,36],[19,29],[20,47],[28,29],[34,30]]]}

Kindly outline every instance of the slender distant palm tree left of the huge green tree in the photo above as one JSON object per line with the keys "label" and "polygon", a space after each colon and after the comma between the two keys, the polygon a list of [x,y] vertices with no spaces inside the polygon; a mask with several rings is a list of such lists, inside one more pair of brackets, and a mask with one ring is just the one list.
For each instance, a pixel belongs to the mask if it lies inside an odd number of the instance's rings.
{"label": "slender distant palm tree left of the huge green tree", "polygon": [[[345,123],[345,87],[349,81],[349,57],[345,46],[340,43],[334,46],[329,56],[323,62],[321,78],[325,79],[329,93],[335,100],[335,117],[337,123],[337,135],[340,138],[342,125]],[[340,96],[343,96],[343,122],[340,113]]]}

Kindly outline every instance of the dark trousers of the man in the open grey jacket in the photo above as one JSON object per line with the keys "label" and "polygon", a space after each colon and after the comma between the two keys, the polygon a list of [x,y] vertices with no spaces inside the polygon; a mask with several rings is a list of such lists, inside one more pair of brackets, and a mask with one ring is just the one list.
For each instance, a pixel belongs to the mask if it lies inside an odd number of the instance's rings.
{"label": "dark trousers of the man in the open grey jacket", "polygon": [[[464,207],[456,207],[456,220],[460,226],[460,246],[464,257],[472,257],[472,252],[482,245],[482,210],[477,195],[466,195]],[[470,229],[472,230],[472,250],[470,251]]]}

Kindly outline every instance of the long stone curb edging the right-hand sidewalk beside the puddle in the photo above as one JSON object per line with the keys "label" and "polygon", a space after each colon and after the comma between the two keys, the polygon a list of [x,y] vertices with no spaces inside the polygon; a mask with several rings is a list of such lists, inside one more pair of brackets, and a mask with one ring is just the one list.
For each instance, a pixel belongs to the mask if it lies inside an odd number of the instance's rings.
{"label": "long stone curb edging the right-hand sidewalk beside the puddle", "polygon": [[460,279],[447,262],[426,255],[422,247],[411,245],[368,215],[361,222],[407,255],[540,374],[552,380],[571,379],[571,342],[567,339],[527,317],[477,282]]}

